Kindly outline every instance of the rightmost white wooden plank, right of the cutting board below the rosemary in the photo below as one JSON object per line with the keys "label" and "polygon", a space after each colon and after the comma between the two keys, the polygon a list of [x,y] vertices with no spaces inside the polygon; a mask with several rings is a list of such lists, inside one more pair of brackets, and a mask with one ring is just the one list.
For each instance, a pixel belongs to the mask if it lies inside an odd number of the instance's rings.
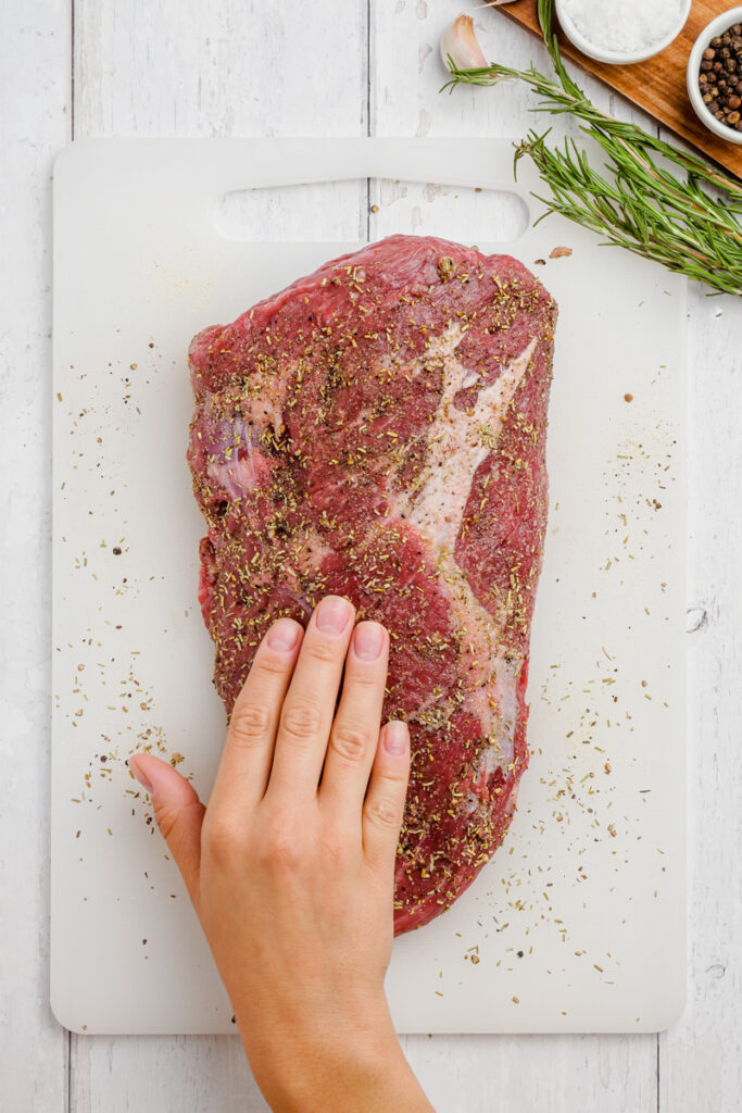
{"label": "rightmost white wooden plank, right of the cutting board below the rosemary", "polygon": [[742,1093],[741,309],[739,298],[701,289],[690,303],[691,933],[685,1014],[660,1037],[667,1113],[732,1113]]}

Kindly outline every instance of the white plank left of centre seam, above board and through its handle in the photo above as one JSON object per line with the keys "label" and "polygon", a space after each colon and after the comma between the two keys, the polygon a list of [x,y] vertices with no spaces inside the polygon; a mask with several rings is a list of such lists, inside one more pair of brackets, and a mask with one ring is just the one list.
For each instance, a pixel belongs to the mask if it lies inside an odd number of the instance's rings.
{"label": "white plank left of centre seam, above board and through its handle", "polygon": [[[299,0],[184,0],[177,16],[148,0],[72,2],[76,138],[366,134],[366,0],[320,3],[311,18]],[[260,191],[246,233],[290,238],[298,210],[336,214],[340,236],[363,238],[366,193],[365,181]],[[306,238],[321,232],[317,219]]]}

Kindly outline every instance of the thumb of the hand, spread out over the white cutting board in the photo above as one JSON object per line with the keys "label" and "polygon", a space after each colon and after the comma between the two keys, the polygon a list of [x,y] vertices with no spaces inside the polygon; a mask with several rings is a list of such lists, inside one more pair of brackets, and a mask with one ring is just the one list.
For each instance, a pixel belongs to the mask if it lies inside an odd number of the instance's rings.
{"label": "thumb of the hand, spread out over the white cutting board", "polygon": [[129,758],[129,769],[152,798],[155,819],[198,910],[201,825],[206,808],[180,774],[151,754]]}

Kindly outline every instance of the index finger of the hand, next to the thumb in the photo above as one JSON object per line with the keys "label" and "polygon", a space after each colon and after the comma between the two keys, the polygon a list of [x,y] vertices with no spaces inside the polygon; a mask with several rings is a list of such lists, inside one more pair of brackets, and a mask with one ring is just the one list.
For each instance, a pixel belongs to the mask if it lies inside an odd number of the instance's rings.
{"label": "index finger of the hand, next to the thumb", "polygon": [[209,808],[234,802],[240,810],[265,794],[284,697],[304,631],[278,619],[258,646],[253,667],[233,708]]}

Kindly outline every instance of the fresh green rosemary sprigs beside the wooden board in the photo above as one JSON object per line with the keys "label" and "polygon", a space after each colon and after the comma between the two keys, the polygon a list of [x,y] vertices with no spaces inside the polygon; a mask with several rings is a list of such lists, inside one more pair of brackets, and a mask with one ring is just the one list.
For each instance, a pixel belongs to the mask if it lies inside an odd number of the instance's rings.
{"label": "fresh green rosemary sprigs beside the wooden board", "polygon": [[576,117],[605,157],[605,165],[596,169],[574,140],[552,148],[546,144],[548,131],[531,130],[516,145],[515,164],[531,158],[550,186],[551,197],[537,197],[546,205],[544,216],[561,213],[605,236],[609,244],[721,293],[742,295],[742,183],[635,124],[598,111],[564,67],[553,0],[538,0],[538,21],[558,80],[533,65],[526,70],[498,63],[458,69],[449,58],[452,79],[444,89],[497,85],[508,78],[530,85],[541,98],[533,111]]}

